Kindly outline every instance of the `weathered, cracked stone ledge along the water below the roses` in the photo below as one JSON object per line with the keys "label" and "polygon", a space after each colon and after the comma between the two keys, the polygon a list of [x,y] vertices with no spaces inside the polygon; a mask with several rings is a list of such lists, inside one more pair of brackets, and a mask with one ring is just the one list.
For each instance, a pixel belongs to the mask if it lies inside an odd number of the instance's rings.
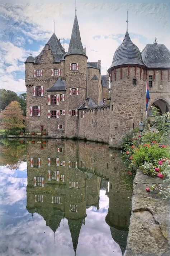
{"label": "weathered, cracked stone ledge along the water below the roses", "polygon": [[153,192],[146,192],[146,187],[155,183],[163,181],[137,170],[126,256],[170,255],[170,201],[162,200]]}

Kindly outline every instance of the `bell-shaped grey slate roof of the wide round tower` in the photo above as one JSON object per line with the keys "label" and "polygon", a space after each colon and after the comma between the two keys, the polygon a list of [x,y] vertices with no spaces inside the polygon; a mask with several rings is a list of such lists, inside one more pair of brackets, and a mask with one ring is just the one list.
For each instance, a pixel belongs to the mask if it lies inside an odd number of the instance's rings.
{"label": "bell-shaped grey slate roof of the wide round tower", "polygon": [[[123,64],[138,64],[145,66],[145,64],[143,64],[141,52],[139,48],[132,43],[128,32],[126,32],[122,44],[115,51],[110,68]],[[108,70],[110,70],[110,68]]]}

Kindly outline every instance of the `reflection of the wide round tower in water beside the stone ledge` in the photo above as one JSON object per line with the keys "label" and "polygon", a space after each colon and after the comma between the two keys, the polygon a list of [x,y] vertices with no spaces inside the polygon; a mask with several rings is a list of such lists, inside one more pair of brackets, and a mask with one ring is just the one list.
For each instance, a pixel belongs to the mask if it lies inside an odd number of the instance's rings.
{"label": "reflection of the wide round tower in water beside the stone ledge", "polygon": [[[114,241],[119,244],[123,255],[126,250],[129,220],[131,216],[131,201],[128,197],[131,197],[132,191],[126,189],[124,182],[120,183],[120,181],[123,181],[123,177],[127,175],[123,170],[121,157],[117,154],[112,161],[112,170],[110,170],[109,176],[109,208],[105,220],[110,226],[112,237]],[[115,169],[114,174],[113,166]]]}

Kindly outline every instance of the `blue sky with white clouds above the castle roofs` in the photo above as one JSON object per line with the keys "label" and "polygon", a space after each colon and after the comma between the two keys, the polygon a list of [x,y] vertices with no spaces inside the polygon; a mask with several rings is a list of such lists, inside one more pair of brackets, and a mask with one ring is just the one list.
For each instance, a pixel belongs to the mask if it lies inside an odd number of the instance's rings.
{"label": "blue sky with white clouds above the castle roofs", "polygon": [[[77,0],[77,19],[88,61],[101,60],[106,75],[126,33],[142,51],[157,38],[170,49],[170,0]],[[69,48],[74,0],[0,0],[0,88],[24,93],[25,60],[36,57],[53,33]]]}

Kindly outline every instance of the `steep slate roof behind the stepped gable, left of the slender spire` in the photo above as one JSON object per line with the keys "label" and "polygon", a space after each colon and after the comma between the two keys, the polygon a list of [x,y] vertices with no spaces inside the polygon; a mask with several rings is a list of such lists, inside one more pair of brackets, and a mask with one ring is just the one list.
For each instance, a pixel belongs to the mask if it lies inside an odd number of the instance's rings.
{"label": "steep slate roof behind the stepped gable, left of the slender spire", "polygon": [[[63,56],[65,55],[64,48],[60,44],[60,41],[58,40],[55,33],[52,34],[50,39],[48,40],[47,44],[49,45],[49,48],[51,49],[51,52],[54,56],[53,62],[60,62]],[[44,48],[43,48],[44,50]],[[41,55],[43,54],[43,50],[41,53],[35,58],[35,63],[41,62]]]}

